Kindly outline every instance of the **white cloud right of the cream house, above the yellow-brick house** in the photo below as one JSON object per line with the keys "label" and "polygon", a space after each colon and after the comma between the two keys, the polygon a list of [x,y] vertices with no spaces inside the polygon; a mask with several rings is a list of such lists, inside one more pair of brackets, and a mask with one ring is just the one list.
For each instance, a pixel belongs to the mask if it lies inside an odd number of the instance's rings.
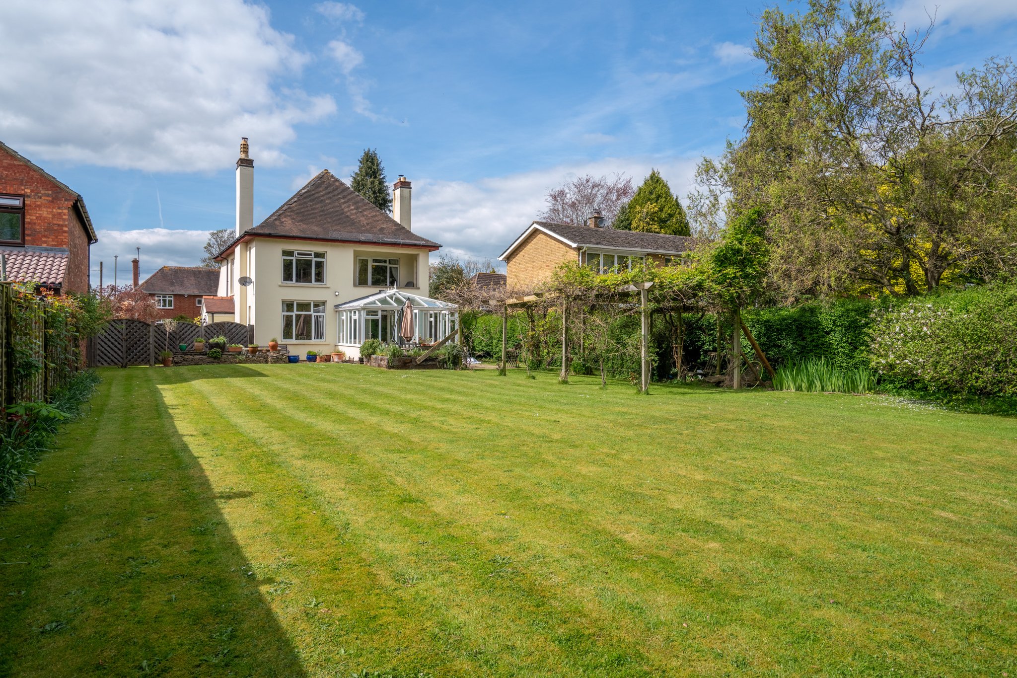
{"label": "white cloud right of the cream house, above the yellow-brick house", "polygon": [[494,259],[544,208],[548,190],[566,179],[626,174],[639,185],[656,168],[683,202],[697,162],[608,158],[474,182],[417,180],[413,182],[413,230],[441,243],[441,252]]}

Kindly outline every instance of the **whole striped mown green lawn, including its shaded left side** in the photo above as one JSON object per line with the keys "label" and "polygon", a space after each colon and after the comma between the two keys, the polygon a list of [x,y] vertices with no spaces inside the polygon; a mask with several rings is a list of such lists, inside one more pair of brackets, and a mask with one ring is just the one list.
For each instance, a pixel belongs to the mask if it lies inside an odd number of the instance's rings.
{"label": "whole striped mown green lawn, including its shaded left side", "polygon": [[0,675],[1017,676],[1017,421],[353,365],[103,370]]}

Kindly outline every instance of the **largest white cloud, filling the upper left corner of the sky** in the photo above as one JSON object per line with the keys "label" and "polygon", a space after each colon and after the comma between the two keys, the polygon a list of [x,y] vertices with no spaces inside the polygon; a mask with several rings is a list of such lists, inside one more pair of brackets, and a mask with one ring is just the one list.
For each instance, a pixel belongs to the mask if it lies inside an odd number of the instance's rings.
{"label": "largest white cloud, filling the upper left corner of the sky", "polygon": [[242,0],[8,0],[0,129],[28,156],[122,169],[205,171],[283,160],[294,125],[336,110],[282,89],[309,59]]}

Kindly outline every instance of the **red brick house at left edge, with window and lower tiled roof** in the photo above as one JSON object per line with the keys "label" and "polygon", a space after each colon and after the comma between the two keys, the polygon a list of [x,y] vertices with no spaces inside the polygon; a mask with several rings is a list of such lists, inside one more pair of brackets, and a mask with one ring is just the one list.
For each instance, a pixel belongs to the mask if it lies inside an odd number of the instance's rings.
{"label": "red brick house at left edge, with window and lower tiled roof", "polygon": [[84,200],[0,141],[0,254],[7,280],[88,292],[88,247],[98,240]]}

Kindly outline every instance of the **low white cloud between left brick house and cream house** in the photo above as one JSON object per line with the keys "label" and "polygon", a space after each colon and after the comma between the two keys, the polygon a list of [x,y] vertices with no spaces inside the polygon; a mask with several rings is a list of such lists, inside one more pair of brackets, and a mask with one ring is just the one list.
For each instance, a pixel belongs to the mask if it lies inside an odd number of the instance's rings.
{"label": "low white cloud between left brick house and cream house", "polygon": [[92,283],[99,285],[99,262],[104,264],[103,284],[113,284],[113,256],[117,261],[117,282],[126,285],[131,280],[130,260],[141,248],[143,281],[161,266],[196,266],[208,241],[207,231],[173,229],[137,229],[134,231],[99,231],[99,242],[92,246]]}

